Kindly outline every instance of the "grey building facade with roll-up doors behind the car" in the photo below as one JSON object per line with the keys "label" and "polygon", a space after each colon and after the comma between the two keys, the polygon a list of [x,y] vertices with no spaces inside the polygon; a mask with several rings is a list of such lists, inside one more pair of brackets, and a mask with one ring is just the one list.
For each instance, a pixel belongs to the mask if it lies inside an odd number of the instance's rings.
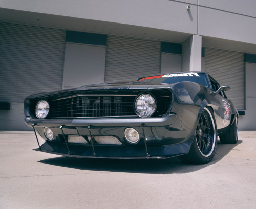
{"label": "grey building facade with roll-up doors behind the car", "polygon": [[2,0],[0,130],[31,130],[23,101],[144,75],[205,71],[256,130],[256,1]]}

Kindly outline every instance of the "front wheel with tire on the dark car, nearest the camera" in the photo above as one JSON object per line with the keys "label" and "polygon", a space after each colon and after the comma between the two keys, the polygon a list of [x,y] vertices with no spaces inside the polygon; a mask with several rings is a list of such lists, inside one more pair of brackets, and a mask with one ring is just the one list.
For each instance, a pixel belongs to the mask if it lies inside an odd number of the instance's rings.
{"label": "front wheel with tire on the dark car, nearest the camera", "polygon": [[205,107],[200,115],[190,151],[184,158],[195,164],[206,164],[214,158],[216,148],[216,121],[212,110]]}

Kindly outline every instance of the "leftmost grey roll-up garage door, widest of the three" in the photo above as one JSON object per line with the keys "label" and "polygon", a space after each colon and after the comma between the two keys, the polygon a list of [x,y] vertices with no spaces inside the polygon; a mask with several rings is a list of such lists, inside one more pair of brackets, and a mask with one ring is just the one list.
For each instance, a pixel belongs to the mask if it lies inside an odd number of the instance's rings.
{"label": "leftmost grey roll-up garage door, widest of the three", "polygon": [[62,89],[66,31],[0,22],[0,101]]}

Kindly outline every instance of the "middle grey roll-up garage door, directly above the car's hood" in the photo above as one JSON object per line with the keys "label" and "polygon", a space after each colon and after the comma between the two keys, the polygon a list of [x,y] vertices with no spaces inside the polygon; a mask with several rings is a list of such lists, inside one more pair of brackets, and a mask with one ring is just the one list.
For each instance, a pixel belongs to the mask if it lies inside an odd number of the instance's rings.
{"label": "middle grey roll-up garage door, directly above the car's hood", "polygon": [[105,82],[134,81],[160,73],[158,41],[108,36],[106,45]]}

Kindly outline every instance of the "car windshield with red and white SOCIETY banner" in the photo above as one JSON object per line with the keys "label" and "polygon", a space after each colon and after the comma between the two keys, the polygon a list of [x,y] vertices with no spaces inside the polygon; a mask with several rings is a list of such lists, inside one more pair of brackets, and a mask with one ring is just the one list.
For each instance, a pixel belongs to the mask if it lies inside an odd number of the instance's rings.
{"label": "car windshield with red and white SOCIETY banner", "polygon": [[169,83],[169,84],[178,83],[181,81],[192,81],[192,82],[200,83],[206,87],[209,87],[206,75],[204,73],[163,74],[163,75],[139,78],[138,81],[146,81],[151,83]]}

